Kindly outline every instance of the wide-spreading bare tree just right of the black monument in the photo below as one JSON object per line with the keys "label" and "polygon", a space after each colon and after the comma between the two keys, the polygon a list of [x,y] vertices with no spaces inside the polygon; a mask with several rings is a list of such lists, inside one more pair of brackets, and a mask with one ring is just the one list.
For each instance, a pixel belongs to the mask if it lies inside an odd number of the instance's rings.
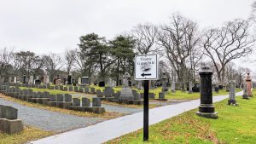
{"label": "wide-spreading bare tree just right of the black monument", "polygon": [[206,32],[203,47],[217,70],[218,84],[224,84],[225,66],[231,60],[252,52],[254,39],[249,35],[248,27],[247,20],[234,20]]}

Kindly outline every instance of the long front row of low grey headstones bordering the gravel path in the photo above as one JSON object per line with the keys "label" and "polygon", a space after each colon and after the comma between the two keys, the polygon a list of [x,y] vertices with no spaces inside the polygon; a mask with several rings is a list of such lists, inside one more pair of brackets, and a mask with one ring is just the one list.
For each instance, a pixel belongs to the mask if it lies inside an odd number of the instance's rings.
{"label": "long front row of low grey headstones bordering the gravel path", "polygon": [[[69,103],[70,106],[73,107],[90,107],[90,99],[89,98],[73,98],[70,94],[58,94],[58,95],[49,95],[49,92],[33,92],[32,89],[19,89],[18,87],[9,87],[2,85],[0,86],[0,91],[6,95],[10,95],[12,97],[18,98],[23,101],[35,102],[48,105],[50,102],[59,102],[59,103]],[[81,102],[82,101],[82,102]],[[82,106],[81,106],[82,103]],[[92,107],[101,107],[101,100],[99,98],[92,98]],[[64,108],[64,107],[62,107]],[[101,107],[102,110],[100,112],[104,112],[104,107]],[[77,108],[78,109],[78,108]],[[99,112],[90,111],[90,112]]]}

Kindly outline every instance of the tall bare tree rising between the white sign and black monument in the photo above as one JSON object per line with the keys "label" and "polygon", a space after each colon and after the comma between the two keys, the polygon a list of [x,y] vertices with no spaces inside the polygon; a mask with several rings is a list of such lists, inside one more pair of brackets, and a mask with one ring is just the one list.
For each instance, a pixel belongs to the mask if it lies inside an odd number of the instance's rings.
{"label": "tall bare tree rising between the white sign and black monument", "polygon": [[[166,49],[166,57],[177,73],[177,79],[184,89],[187,61],[195,46],[199,44],[197,24],[180,14],[172,14],[169,25],[160,26],[158,44]],[[195,61],[191,63],[195,65]],[[193,67],[192,67],[193,68]]]}

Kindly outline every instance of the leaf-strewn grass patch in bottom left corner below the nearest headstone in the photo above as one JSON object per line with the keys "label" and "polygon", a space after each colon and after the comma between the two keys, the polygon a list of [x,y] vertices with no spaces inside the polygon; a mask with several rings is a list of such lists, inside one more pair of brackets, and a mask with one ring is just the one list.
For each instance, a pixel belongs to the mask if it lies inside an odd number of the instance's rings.
{"label": "leaf-strewn grass patch in bottom left corner below the nearest headstone", "polygon": [[54,132],[44,131],[34,127],[25,127],[20,133],[9,135],[0,132],[0,144],[21,144],[27,141],[38,140],[49,135],[54,135]]}

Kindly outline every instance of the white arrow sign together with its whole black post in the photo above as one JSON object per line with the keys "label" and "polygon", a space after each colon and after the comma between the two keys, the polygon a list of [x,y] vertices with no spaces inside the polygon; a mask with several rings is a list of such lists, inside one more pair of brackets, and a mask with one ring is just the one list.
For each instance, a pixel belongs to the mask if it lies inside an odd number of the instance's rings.
{"label": "white arrow sign together with its whole black post", "polygon": [[137,55],[135,57],[135,80],[144,80],[143,141],[148,141],[148,93],[149,80],[158,79],[157,55]]}

